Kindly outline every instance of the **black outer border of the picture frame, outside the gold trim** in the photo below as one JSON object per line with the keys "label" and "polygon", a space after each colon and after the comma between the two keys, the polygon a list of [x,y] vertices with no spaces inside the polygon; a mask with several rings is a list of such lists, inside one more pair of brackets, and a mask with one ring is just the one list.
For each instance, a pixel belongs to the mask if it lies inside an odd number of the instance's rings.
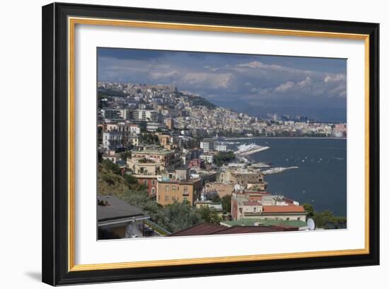
{"label": "black outer border of the picture frame, outside the gold trim", "polygon": [[[67,17],[147,20],[202,25],[369,35],[369,254],[182,266],[68,271]],[[42,281],[50,285],[379,264],[379,24],[248,16],[119,6],[54,3],[42,7]]]}

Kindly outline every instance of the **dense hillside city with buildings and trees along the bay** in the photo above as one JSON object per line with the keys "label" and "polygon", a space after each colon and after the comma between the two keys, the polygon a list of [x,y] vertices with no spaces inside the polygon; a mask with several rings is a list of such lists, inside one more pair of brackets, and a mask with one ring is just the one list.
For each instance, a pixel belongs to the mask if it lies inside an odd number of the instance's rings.
{"label": "dense hillside city with buildings and trees along the bay", "polygon": [[252,117],[173,85],[99,81],[98,238],[345,228],[345,218],[267,191],[266,175],[298,167],[253,161],[269,149],[257,137],[346,138],[347,125]]}

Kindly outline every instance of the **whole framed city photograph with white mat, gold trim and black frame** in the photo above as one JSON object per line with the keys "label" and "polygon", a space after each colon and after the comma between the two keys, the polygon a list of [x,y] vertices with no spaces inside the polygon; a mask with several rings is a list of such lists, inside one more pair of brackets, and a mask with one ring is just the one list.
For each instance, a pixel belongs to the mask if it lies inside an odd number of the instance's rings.
{"label": "whole framed city photograph with white mat, gold trim and black frame", "polygon": [[42,8],[42,281],[379,264],[376,23]]}

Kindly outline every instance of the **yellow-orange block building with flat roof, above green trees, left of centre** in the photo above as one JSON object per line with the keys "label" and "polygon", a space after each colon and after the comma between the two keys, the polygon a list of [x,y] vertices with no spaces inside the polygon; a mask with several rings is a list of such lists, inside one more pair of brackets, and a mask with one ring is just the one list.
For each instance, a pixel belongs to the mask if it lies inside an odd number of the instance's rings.
{"label": "yellow-orange block building with flat roof, above green trees, left of centre", "polygon": [[157,198],[158,204],[166,206],[173,204],[175,201],[189,201],[191,205],[194,204],[199,191],[201,190],[200,179],[190,180],[158,180]]}

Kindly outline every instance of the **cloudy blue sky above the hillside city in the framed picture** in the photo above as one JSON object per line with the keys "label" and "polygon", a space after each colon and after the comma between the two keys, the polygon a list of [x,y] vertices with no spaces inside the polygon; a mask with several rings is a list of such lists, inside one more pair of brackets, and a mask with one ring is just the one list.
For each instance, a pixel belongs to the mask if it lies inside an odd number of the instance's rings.
{"label": "cloudy blue sky above the hillside city in the framed picture", "polygon": [[98,80],[173,84],[255,116],[345,121],[347,59],[98,48]]}

